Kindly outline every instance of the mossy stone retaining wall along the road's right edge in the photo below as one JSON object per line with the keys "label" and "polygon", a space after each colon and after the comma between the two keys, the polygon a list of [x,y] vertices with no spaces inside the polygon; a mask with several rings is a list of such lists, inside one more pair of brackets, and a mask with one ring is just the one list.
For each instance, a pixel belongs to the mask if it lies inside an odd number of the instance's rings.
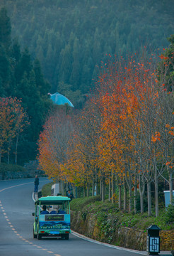
{"label": "mossy stone retaining wall along the road's right edge", "polygon": [[[86,235],[88,238],[93,238],[100,242],[110,242],[112,245],[117,245],[134,250],[146,250],[147,232],[135,230],[133,228],[115,228],[111,235],[102,232],[98,226],[97,216],[89,213],[84,216],[81,212],[71,212],[71,229]],[[160,232],[161,250],[173,250],[174,248],[174,230]]]}

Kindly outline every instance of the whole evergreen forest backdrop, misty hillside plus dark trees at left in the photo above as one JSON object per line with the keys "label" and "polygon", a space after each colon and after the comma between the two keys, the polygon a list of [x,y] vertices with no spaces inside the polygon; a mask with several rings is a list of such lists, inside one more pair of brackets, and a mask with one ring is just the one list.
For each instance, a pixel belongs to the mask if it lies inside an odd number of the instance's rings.
{"label": "whole evergreen forest backdrop, misty hillside plus dark trees at left", "polygon": [[35,159],[48,92],[81,108],[108,59],[160,55],[174,31],[173,7],[170,0],[1,0],[1,110],[8,105],[1,161],[14,163],[17,151],[19,164]]}

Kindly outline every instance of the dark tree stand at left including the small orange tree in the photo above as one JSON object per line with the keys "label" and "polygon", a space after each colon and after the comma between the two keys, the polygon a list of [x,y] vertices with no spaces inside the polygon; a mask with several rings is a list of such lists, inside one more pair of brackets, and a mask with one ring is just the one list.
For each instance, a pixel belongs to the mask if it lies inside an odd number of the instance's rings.
{"label": "dark tree stand at left including the small orange tree", "polygon": [[[11,21],[0,10],[0,160],[18,164],[35,159],[37,139],[52,102],[39,60],[31,60],[11,38]],[[0,162],[1,162],[0,161]]]}

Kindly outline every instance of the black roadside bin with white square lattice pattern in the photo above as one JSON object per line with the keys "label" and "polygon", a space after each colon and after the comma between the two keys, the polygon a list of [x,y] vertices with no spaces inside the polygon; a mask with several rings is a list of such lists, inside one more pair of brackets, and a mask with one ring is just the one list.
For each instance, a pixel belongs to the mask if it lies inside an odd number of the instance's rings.
{"label": "black roadside bin with white square lattice pattern", "polygon": [[160,252],[160,236],[159,231],[161,230],[158,228],[157,225],[150,225],[147,235],[147,251],[149,255],[158,255]]}

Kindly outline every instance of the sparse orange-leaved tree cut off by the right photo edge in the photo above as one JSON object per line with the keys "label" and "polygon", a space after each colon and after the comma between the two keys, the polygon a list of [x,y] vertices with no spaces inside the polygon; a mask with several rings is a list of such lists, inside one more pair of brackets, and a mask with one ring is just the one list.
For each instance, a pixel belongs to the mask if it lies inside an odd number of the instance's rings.
{"label": "sparse orange-leaved tree cut off by the right photo edge", "polygon": [[[160,80],[156,83],[158,87],[158,100],[156,107],[156,129],[151,136],[151,142],[156,146],[158,163],[163,168],[163,178],[167,181],[170,191],[170,204],[173,201],[173,176],[174,176],[174,112],[173,112],[173,87],[167,90],[167,85]],[[168,81],[168,78],[166,78]],[[167,174],[167,175],[166,175]]]}

